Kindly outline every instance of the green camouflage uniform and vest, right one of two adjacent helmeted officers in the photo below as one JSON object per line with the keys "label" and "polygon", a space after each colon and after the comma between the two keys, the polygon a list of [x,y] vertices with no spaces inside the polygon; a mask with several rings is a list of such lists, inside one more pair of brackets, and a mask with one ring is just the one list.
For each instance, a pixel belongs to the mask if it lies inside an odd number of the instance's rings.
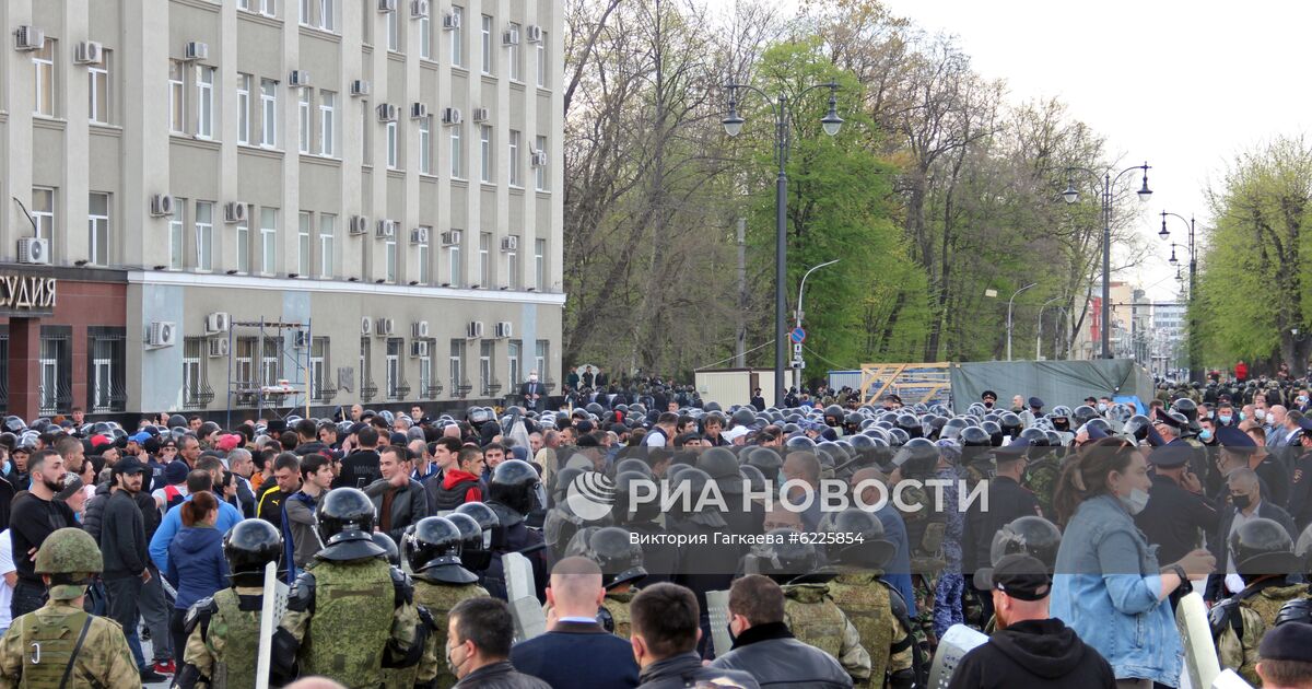
{"label": "green camouflage uniform and vest, right one of two adjacent helmeted officers", "polygon": [[828,584],[829,597],[857,627],[861,647],[870,654],[871,686],[883,686],[888,675],[911,669],[912,644],[916,643],[907,626],[911,621],[905,601],[897,616],[893,600],[901,598],[879,576],[878,571],[842,571]]}

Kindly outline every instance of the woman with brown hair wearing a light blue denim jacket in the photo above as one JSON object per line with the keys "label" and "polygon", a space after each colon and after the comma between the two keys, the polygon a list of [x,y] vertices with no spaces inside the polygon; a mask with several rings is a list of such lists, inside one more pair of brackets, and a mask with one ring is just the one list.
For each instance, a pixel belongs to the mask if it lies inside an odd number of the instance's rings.
{"label": "woman with brown hair wearing a light blue denim jacket", "polygon": [[1144,454],[1128,441],[1103,438],[1067,465],[1055,500],[1065,532],[1052,617],[1097,648],[1126,689],[1179,685],[1183,650],[1168,596],[1215,564],[1199,549],[1158,567],[1157,546],[1134,522],[1149,487]]}

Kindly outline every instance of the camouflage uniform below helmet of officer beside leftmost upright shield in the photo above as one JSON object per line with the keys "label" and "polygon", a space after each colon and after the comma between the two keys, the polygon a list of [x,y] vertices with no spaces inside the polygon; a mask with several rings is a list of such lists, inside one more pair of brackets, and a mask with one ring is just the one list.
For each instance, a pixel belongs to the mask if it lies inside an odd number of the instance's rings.
{"label": "camouflage uniform below helmet of officer beside leftmost upright shield", "polygon": [[[198,625],[186,638],[182,661],[195,665],[201,677],[209,677],[213,689],[255,686],[262,600],[262,587],[237,587],[192,608]],[[189,621],[192,614],[188,613]]]}

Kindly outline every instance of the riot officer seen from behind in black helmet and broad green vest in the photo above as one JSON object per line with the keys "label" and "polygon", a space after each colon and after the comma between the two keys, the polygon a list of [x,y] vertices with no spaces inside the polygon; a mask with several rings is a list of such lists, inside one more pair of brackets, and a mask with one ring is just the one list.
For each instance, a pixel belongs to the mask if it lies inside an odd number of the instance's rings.
{"label": "riot officer seen from behind in black helmet and broad green vest", "polygon": [[[384,667],[419,663],[428,629],[409,577],[379,559],[374,504],[357,488],[335,488],[315,508],[324,549],[291,587],[273,637],[273,675],[328,675],[348,686],[377,686]],[[388,595],[390,593],[390,595]],[[342,634],[350,630],[350,634]]]}

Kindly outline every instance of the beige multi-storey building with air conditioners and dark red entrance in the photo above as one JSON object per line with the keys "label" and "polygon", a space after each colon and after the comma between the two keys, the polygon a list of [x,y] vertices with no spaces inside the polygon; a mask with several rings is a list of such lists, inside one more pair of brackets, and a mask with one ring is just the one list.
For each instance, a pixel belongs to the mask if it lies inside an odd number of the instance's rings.
{"label": "beige multi-storey building with air conditioners and dark red entrance", "polygon": [[0,20],[9,413],[436,411],[559,379],[562,3]]}

